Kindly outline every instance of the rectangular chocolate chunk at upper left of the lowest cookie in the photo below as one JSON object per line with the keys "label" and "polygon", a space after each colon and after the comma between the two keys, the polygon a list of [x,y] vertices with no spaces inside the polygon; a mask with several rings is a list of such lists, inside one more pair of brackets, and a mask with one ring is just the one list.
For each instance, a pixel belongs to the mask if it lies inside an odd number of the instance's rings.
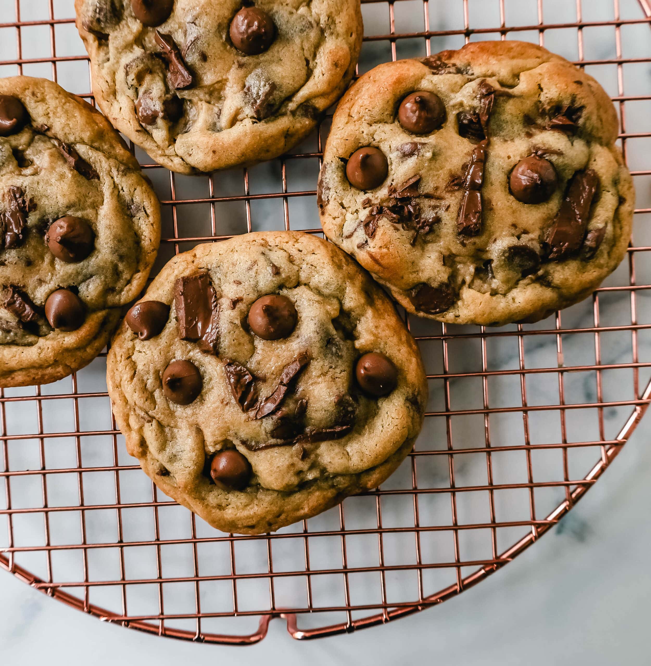
{"label": "rectangular chocolate chunk at upper left of the lowest cookie", "polygon": [[209,274],[179,278],[174,285],[174,303],[179,337],[198,342],[203,352],[217,356],[219,302]]}

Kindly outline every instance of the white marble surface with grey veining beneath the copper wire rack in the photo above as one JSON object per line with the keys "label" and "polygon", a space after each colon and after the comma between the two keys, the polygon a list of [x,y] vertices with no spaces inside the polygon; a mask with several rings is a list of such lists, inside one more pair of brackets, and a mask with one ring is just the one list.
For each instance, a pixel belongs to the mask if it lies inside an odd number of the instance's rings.
{"label": "white marble surface with grey veining beneath the copper wire rack", "polygon": [[[0,0],[3,9],[11,14],[13,2]],[[583,15],[586,21],[598,21],[613,17],[612,0],[583,0]],[[70,15],[71,0],[54,0],[55,17]],[[388,31],[386,3],[364,5],[366,33],[382,34]],[[498,25],[499,13],[496,0],[470,0],[471,27]],[[23,20],[47,17],[47,0],[21,0]],[[458,27],[462,21],[461,0],[430,0],[430,25],[432,29]],[[562,23],[576,20],[576,3],[564,0],[544,0],[545,20]],[[621,0],[623,18],[640,17],[636,0]],[[422,3],[406,0],[395,4],[396,30],[418,31],[422,29]],[[13,17],[2,16],[0,21],[11,21]],[[537,22],[534,0],[506,0],[506,20],[509,25],[528,25]],[[45,31],[45,32],[43,32]],[[28,37],[29,35],[29,37]],[[538,33],[527,31],[512,35],[520,39],[537,41]],[[486,35],[495,37],[495,34]],[[651,39],[648,25],[631,25],[622,28],[622,46],[625,57],[649,57]],[[15,53],[13,31],[0,34],[0,59],[13,57]],[[473,37],[474,39],[474,37]],[[432,40],[432,51],[454,48],[461,45],[462,37],[444,37]],[[546,33],[546,45],[578,59],[576,30],[554,30]],[[82,49],[82,50],[80,50]],[[399,41],[396,45],[398,57],[424,55],[424,42],[419,39]],[[79,39],[70,25],[57,27],[57,54],[75,55],[83,53]],[[33,29],[23,35],[23,56],[28,58],[48,57],[49,31]],[[615,57],[614,31],[609,27],[584,30],[584,57],[604,59]],[[390,57],[388,43],[370,42],[364,45],[360,59],[360,71],[366,71],[376,63]],[[83,65],[83,66],[82,66]],[[61,63],[59,83],[76,93],[88,90],[85,63]],[[0,66],[0,75],[15,73],[15,68]],[[590,73],[598,77],[611,95],[617,94],[616,66],[591,67]],[[26,65],[25,73],[51,76],[49,64]],[[627,95],[648,95],[651,90],[651,67],[649,63],[626,65],[624,83]],[[626,104],[628,132],[648,132],[650,129],[649,103]],[[632,168],[649,168],[650,139],[629,140],[628,160]],[[314,137],[304,148],[314,150]],[[288,161],[289,188],[313,189],[316,177],[316,161]],[[315,162],[313,164],[312,162]],[[251,170],[252,193],[271,192],[279,188],[279,163],[268,163]],[[298,167],[298,168],[297,168]],[[169,198],[169,174],[164,170],[151,170],[161,198]],[[177,196],[207,196],[207,178],[177,177]],[[217,195],[243,194],[241,171],[219,174],[215,178]],[[637,176],[638,207],[651,207],[651,177]],[[315,202],[312,197],[290,198],[290,217],[293,228],[318,226]],[[282,206],[279,200],[259,200],[252,206],[253,227],[279,228],[282,222]],[[188,235],[209,233],[209,207],[199,205],[179,206],[181,232]],[[221,204],[217,206],[217,220],[221,232],[241,232],[245,223],[243,205]],[[651,245],[648,224],[651,216],[636,216],[634,242]],[[170,209],[165,210],[164,223],[170,230]],[[181,249],[187,249],[185,246]],[[161,261],[167,258],[172,246],[165,246]],[[646,254],[636,258],[638,283],[649,282],[651,271]],[[628,266],[624,264],[608,278],[606,284],[617,286],[628,284]],[[638,322],[651,320],[651,298],[646,292],[636,296]],[[603,326],[630,324],[631,300],[628,294],[602,294],[600,297],[600,323]],[[562,314],[564,328],[592,326],[594,312],[590,300],[574,306]],[[553,328],[550,319],[536,328]],[[532,326],[526,328],[533,328]],[[471,327],[450,328],[455,332],[472,332]],[[416,333],[440,331],[431,324],[414,324]],[[559,359],[556,337],[532,336],[524,338],[526,366],[528,368],[553,368],[559,360],[565,366],[592,364],[595,361],[594,337],[592,335],[563,336],[563,355]],[[638,336],[638,360],[651,360],[651,336],[643,330]],[[604,364],[621,364],[633,360],[632,339],[628,332],[602,334],[602,358]],[[440,344],[422,344],[428,372],[439,373],[442,369]],[[454,341],[449,346],[450,372],[472,372],[481,369],[481,348],[478,340]],[[518,364],[518,349],[512,338],[488,340],[486,355],[490,370],[512,370]],[[104,362],[98,359],[78,374],[79,391],[103,391]],[[640,370],[640,387],[649,379],[646,368]],[[603,373],[602,400],[622,401],[635,398],[631,370],[611,370]],[[596,394],[594,372],[566,374],[564,391],[567,402],[594,402]],[[440,380],[430,383],[430,409],[444,409],[443,384]],[[520,405],[520,380],[517,377],[491,378],[489,381],[491,407],[517,407]],[[558,378],[556,374],[530,375],[526,380],[530,405],[556,404],[558,402]],[[43,387],[43,394],[65,394],[71,392],[69,379]],[[7,395],[33,395],[33,389],[8,391]],[[638,391],[639,395],[639,391]],[[450,382],[452,409],[481,408],[482,385],[480,380],[456,379]],[[615,436],[630,413],[630,406],[611,407],[604,411],[602,436]],[[35,402],[7,404],[7,434],[35,433]],[[108,400],[93,398],[79,403],[79,428],[101,430],[110,428]],[[560,441],[560,413],[532,412],[530,430],[532,443],[542,444]],[[110,438],[85,436],[81,438],[79,453],[75,450],[74,438],[47,438],[47,434],[74,430],[73,402],[69,399],[43,402],[43,432],[46,435],[44,454],[49,468],[73,467],[77,455],[84,467],[114,464]],[[445,448],[444,418],[428,420],[416,450]],[[589,441],[600,438],[594,410],[568,410],[566,432],[570,442]],[[522,442],[522,416],[517,412],[491,417],[492,444],[520,444]],[[643,420],[632,441],[626,446],[614,465],[590,490],[586,498],[555,527],[540,543],[528,549],[504,569],[498,571],[478,587],[447,601],[437,607],[391,623],[386,627],[375,627],[349,636],[333,637],[312,643],[298,643],[287,635],[282,620],[271,623],[269,636],[263,643],[249,649],[221,646],[191,645],[179,641],[157,639],[135,631],[105,625],[92,617],[73,611],[61,603],[47,599],[44,595],[19,583],[11,575],[0,572],[0,655],[3,663],[141,663],[145,659],[159,663],[177,663],[191,658],[237,659],[241,664],[259,663],[266,659],[271,663],[332,663],[334,659],[344,663],[412,663],[416,661],[472,664],[569,664],[569,663],[626,663],[637,666],[649,663],[646,634],[651,612],[647,599],[651,593],[651,577],[646,571],[651,538],[651,521],[648,507],[651,505],[651,450],[648,446],[651,434],[651,417]],[[452,439],[455,448],[483,446],[484,425],[480,416],[452,419]],[[119,441],[118,462],[133,464],[123,451]],[[559,450],[534,452],[534,480],[562,480],[562,465]],[[582,478],[596,462],[598,450],[582,449],[570,451],[570,478]],[[39,445],[35,439],[11,442],[8,448],[8,464],[11,470],[29,470],[40,466]],[[0,458],[1,462],[1,458]],[[421,488],[446,487],[449,483],[446,456],[419,458],[418,483]],[[458,486],[473,486],[486,483],[486,462],[482,454],[454,456],[456,483]],[[524,453],[500,454],[493,458],[494,482],[497,484],[526,481]],[[3,481],[0,481],[0,509],[5,508]],[[83,479],[84,501],[87,505],[103,505],[115,501],[115,481],[111,473],[85,474]],[[137,502],[151,500],[151,485],[145,476],[136,470],[121,473],[121,500]],[[384,486],[385,489],[410,488],[410,468],[403,466]],[[47,494],[50,506],[77,505],[79,501],[77,477],[75,475],[49,476]],[[13,478],[11,480],[12,506],[40,507],[41,481],[37,476]],[[536,490],[536,517],[544,517],[562,500],[564,493],[558,487]],[[165,500],[159,496],[159,500]],[[370,504],[369,504],[370,501]],[[382,499],[384,526],[412,524],[410,499],[405,504],[391,496]],[[448,496],[435,495],[420,498],[422,525],[446,525],[450,523]],[[486,521],[486,497],[476,493],[458,494],[460,522]],[[346,500],[346,525],[348,527],[374,527],[374,500],[372,498],[350,498]],[[526,492],[505,492],[496,497],[498,520],[527,519],[529,515]],[[187,535],[189,514],[182,509],[165,507],[161,514],[161,538]],[[33,514],[33,519],[16,517],[13,525],[17,545],[43,544],[43,517]],[[49,517],[53,543],[80,543],[79,517],[76,513],[52,513]],[[332,511],[309,521],[310,529],[336,528],[336,513]],[[0,549],[7,545],[4,517],[0,521]],[[115,539],[116,523],[113,511],[91,511],[85,524],[89,543],[111,542]],[[125,517],[125,542],[149,538],[153,521],[151,509],[135,509]],[[287,528],[287,533],[295,531]],[[205,523],[197,521],[199,537],[211,537],[215,531]],[[523,533],[523,528],[500,530],[500,551]],[[438,536],[437,536],[438,535]],[[439,538],[444,535],[445,538]],[[436,537],[436,538],[434,538]],[[348,539],[348,564],[350,566],[376,563],[377,543],[372,537]],[[464,560],[490,557],[487,552],[486,530],[463,532],[460,537],[460,555]],[[384,556],[387,564],[408,564],[414,561],[414,539],[411,534],[391,539],[385,538]],[[284,544],[284,545],[283,545]],[[448,561],[450,558],[449,532],[423,536],[425,561]],[[279,569],[301,566],[301,541],[286,539],[274,543],[274,561]],[[311,545],[313,568],[328,568],[337,564],[338,540],[325,539]],[[370,549],[369,549],[370,548]],[[115,577],[115,552],[103,549],[89,551],[89,574],[91,580]],[[257,544],[244,544],[237,553],[238,571],[261,571],[266,566],[266,553]],[[436,559],[439,558],[439,559]],[[127,577],[143,578],[155,575],[155,553],[151,549],[125,549]],[[191,574],[191,552],[187,549],[165,547],[162,554],[165,575]],[[200,568],[203,573],[228,573],[224,569],[225,553],[218,548],[200,553]],[[42,553],[28,555],[19,553],[17,561],[45,576],[45,559]],[[57,580],[79,580],[81,565],[79,551],[59,551],[53,555],[53,575]],[[450,573],[450,569],[444,573]],[[464,574],[469,571],[464,571]],[[320,603],[340,602],[340,581],[318,583],[314,578],[315,598]],[[287,579],[286,579],[287,580]],[[425,593],[432,593],[451,581],[445,577],[426,577]],[[357,579],[351,589],[357,603],[372,603],[377,599],[378,584],[374,578]],[[414,599],[413,577],[396,574],[387,576],[390,601]],[[305,588],[297,585],[277,583],[277,604],[301,605],[305,603]],[[156,612],[156,600],[151,591],[131,589],[129,611],[131,613]],[[95,588],[91,601],[119,611],[119,599],[108,588]],[[205,604],[217,603],[215,610],[227,609],[229,589],[202,591]],[[268,599],[268,582],[255,579],[247,589],[240,591],[241,603],[251,607],[265,608]],[[193,603],[193,592],[187,587],[165,590],[166,610],[187,611]],[[219,606],[219,603],[224,605]],[[204,605],[204,610],[207,609]],[[315,618],[315,623],[319,620]],[[340,621],[332,618],[330,621]],[[299,620],[303,626],[309,621]],[[253,626],[257,622],[253,622]],[[184,626],[183,628],[189,628]],[[229,625],[223,631],[246,633],[251,623],[242,627]],[[237,649],[237,653],[235,650]],[[211,652],[209,652],[211,651]]]}

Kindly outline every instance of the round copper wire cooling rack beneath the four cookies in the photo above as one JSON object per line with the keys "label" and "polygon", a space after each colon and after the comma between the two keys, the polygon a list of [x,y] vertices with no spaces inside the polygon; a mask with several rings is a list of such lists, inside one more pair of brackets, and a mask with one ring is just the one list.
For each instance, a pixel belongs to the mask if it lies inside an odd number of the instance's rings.
{"label": "round copper wire cooling rack beneath the four cookies", "polygon": [[[92,101],[73,0],[0,4],[0,75],[49,77]],[[125,453],[105,354],[56,384],[0,390],[0,566],[32,587],[106,621],[212,643],[259,641],[273,617],[297,639],[385,623],[468,589],[534,543],[642,418],[651,398],[648,0],[362,0],[362,10],[360,73],[475,39],[534,41],[586,67],[616,103],[636,181],[627,260],[592,299],[538,324],[408,320],[431,394],[414,452],[382,488],[274,534],[221,533],[157,492]],[[251,230],[319,233],[327,127],[283,159],[198,178],[136,150],[163,202],[157,267]]]}

